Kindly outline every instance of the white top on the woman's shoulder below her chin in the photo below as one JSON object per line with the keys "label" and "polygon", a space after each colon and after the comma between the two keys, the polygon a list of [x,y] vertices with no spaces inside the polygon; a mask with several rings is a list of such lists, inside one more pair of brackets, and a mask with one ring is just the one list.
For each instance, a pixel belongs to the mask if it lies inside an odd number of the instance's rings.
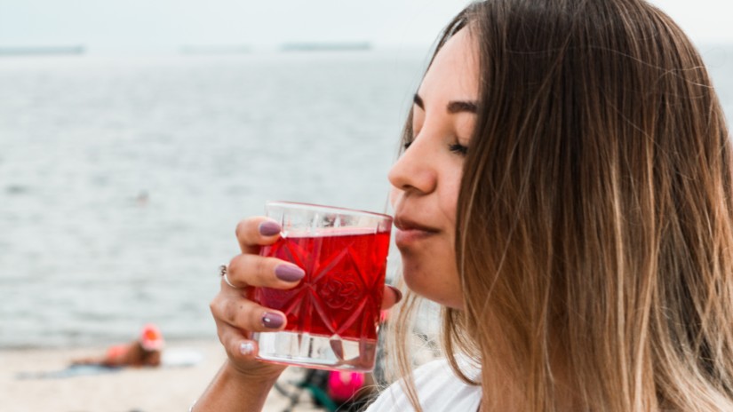
{"label": "white top on the woman's shoulder below her chin", "polygon": [[[478,371],[466,376],[475,378]],[[425,412],[475,412],[481,404],[481,386],[465,384],[441,359],[431,361],[415,370],[415,388],[420,406]],[[399,382],[391,384],[382,392],[366,412],[409,412],[414,411],[407,394]]]}

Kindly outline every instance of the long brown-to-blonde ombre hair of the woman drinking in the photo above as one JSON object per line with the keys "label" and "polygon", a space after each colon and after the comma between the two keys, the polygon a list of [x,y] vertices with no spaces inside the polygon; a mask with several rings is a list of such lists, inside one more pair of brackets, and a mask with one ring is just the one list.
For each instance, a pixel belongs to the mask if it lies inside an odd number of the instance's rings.
{"label": "long brown-to-blonde ombre hair of the woman drinking", "polygon": [[[641,0],[471,4],[436,52],[464,28],[481,90],[451,367],[484,407],[733,410],[731,143],[695,47]],[[392,352],[409,376],[406,303]]]}

